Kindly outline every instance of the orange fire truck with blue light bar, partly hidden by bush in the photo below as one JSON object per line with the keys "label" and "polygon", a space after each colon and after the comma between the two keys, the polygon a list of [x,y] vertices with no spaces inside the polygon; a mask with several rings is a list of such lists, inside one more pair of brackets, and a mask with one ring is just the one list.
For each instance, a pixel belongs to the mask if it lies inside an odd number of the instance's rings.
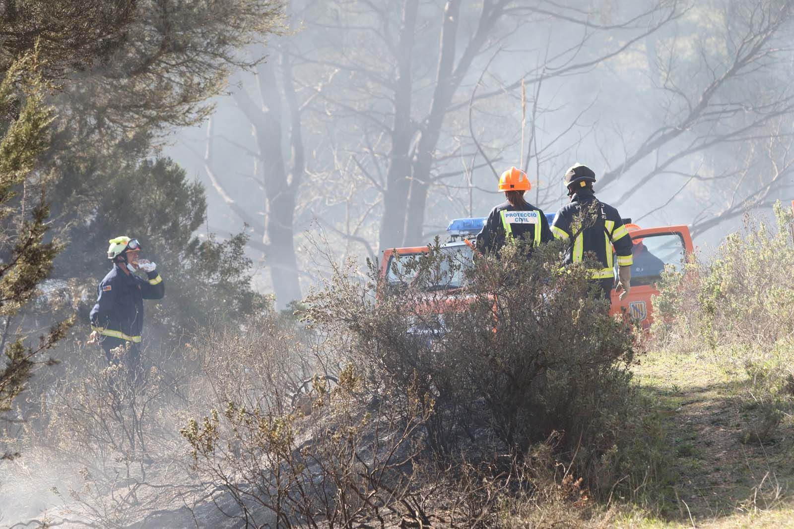
{"label": "orange fire truck with blue light bar, partly hidden by bush", "polygon": [[[549,224],[553,214],[547,214]],[[466,263],[472,263],[473,252],[468,240],[473,240],[485,224],[485,217],[455,219],[449,223],[447,233],[449,240],[441,247],[441,251],[449,253],[457,263],[461,263],[460,270],[453,270],[452,275],[446,278],[442,288],[453,293],[464,292],[464,269]],[[634,264],[631,267],[631,289],[625,298],[619,299],[615,290],[611,296],[611,314],[625,313],[631,320],[649,328],[653,323],[653,306],[651,298],[658,294],[656,282],[661,279],[665,266],[672,265],[682,270],[684,263],[694,251],[692,237],[686,225],[660,226],[657,228],[640,228],[631,224],[630,219],[623,220],[630,228],[631,240],[634,243]],[[426,246],[391,248],[383,252],[380,263],[380,278],[387,288],[398,286],[404,281],[401,269],[413,257],[418,257],[428,252]],[[399,257],[399,259],[398,259]],[[617,266],[617,265],[616,265]],[[456,267],[457,268],[457,267]],[[617,275],[617,270],[615,270]],[[439,286],[427,286],[428,289],[437,289]]]}

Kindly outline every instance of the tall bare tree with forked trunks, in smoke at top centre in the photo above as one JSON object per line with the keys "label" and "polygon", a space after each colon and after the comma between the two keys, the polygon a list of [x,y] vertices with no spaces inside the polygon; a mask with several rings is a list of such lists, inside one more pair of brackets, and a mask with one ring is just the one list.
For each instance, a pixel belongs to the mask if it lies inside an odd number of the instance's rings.
{"label": "tall bare tree with forked trunks, in smoke at top centre", "polygon": [[[378,144],[381,135],[387,137],[380,151],[371,154],[370,163],[360,160],[363,167],[359,167],[375,172],[376,165],[385,166],[383,178],[376,181],[383,194],[380,247],[423,240],[430,189],[443,185],[437,176],[461,174],[450,170],[449,163],[475,152],[471,141],[461,144],[464,128],[457,127],[465,127],[461,117],[485,56],[503,52],[501,67],[505,67],[510,54],[503,48],[520,44],[522,33],[538,25],[570,25],[578,31],[572,33],[576,40],[554,46],[541,62],[514,66],[514,79],[503,82],[499,90],[484,92],[478,101],[515,90],[522,79],[539,82],[588,71],[680,14],[676,2],[652,2],[625,21],[599,25],[592,21],[595,11],[553,2],[527,6],[493,0],[473,6],[449,0],[443,10],[416,0],[399,6],[353,2],[357,9],[349,9],[350,2],[337,3],[339,9],[331,10],[331,17],[309,23],[341,50],[333,59],[315,60],[339,68],[344,74],[338,79],[348,86],[341,93],[329,90],[321,98],[342,120],[359,121],[358,134],[367,139],[362,144]],[[342,10],[341,3],[348,9]],[[607,30],[625,32],[628,38],[592,52],[593,34]],[[360,94],[370,98],[357,100]]]}

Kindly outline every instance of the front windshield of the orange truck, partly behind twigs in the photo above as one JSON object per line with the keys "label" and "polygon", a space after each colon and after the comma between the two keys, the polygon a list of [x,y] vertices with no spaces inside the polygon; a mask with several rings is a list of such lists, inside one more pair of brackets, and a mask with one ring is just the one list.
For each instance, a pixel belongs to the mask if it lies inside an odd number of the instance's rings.
{"label": "front windshield of the orange truck, partly behind twigs", "polygon": [[403,254],[397,258],[389,258],[386,272],[386,283],[390,287],[421,286],[426,291],[458,289],[464,284],[464,270],[472,267],[472,249],[468,246],[452,246],[441,248],[441,252],[449,259],[439,259],[437,270],[421,270],[416,260],[426,251],[415,254]]}

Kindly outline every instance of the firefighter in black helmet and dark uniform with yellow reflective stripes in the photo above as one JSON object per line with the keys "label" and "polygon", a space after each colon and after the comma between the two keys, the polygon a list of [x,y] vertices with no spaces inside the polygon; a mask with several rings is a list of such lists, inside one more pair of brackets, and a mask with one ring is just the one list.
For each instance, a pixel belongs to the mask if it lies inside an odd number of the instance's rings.
{"label": "firefighter in black helmet and dark uniform with yellow reflective stripes", "polygon": [[632,243],[620,213],[595,197],[595,173],[589,167],[576,163],[565,173],[564,182],[571,201],[557,212],[551,231],[557,239],[569,242],[565,264],[580,263],[585,255],[592,255],[601,266],[590,270],[591,277],[608,301],[615,283],[616,254],[617,290],[623,299],[630,289]]}

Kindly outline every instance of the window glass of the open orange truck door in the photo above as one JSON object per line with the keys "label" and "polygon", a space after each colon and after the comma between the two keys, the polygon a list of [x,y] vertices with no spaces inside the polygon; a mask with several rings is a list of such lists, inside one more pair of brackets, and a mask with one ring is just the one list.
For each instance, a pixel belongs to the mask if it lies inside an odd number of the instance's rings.
{"label": "window glass of the open orange truck door", "polygon": [[686,259],[684,238],[678,232],[658,233],[634,239],[631,285],[653,285],[661,279],[665,265],[682,270]]}

